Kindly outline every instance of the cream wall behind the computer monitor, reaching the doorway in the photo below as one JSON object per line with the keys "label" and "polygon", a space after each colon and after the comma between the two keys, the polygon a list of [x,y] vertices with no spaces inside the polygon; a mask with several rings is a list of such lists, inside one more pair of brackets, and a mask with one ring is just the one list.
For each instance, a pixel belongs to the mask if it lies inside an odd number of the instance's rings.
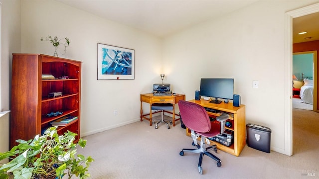
{"label": "cream wall behind the computer monitor, reaching the doorway", "polygon": [[[288,153],[285,12],[305,4],[261,1],[167,37],[163,66],[173,77],[170,83],[189,100],[199,90],[200,78],[234,78],[234,93],[246,105],[246,123],[271,128],[272,150]],[[253,80],[259,81],[259,88],[253,88]]]}

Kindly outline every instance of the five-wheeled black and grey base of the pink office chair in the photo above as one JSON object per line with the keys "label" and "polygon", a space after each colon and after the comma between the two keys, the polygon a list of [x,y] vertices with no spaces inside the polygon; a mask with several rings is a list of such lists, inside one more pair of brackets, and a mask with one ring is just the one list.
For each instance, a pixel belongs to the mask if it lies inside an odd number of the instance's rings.
{"label": "five-wheeled black and grey base of the pink office chair", "polygon": [[201,164],[203,162],[203,157],[204,155],[212,158],[213,160],[215,160],[217,162],[217,167],[221,167],[221,160],[214,156],[213,154],[211,154],[210,152],[208,152],[209,150],[214,150],[215,153],[217,153],[217,146],[216,145],[212,145],[212,146],[209,146],[209,147],[205,147],[205,137],[204,136],[201,136],[201,139],[200,139],[200,145],[198,144],[194,144],[194,142],[192,142],[192,145],[193,146],[196,146],[197,149],[182,149],[180,152],[179,152],[179,155],[180,156],[183,156],[184,155],[184,152],[191,152],[191,153],[196,153],[196,154],[200,154],[199,155],[199,161],[198,161],[198,172],[199,174],[203,174],[203,168],[201,167]]}

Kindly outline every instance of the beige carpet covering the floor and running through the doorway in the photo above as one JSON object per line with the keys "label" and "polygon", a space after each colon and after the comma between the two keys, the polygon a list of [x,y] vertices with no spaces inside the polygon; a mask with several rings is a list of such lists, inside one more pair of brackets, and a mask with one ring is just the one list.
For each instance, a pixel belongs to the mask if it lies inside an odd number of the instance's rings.
{"label": "beige carpet covering the floor and running through the doorway", "polygon": [[[116,129],[84,137],[87,146],[79,154],[92,156],[91,179],[315,179],[319,177],[319,113],[293,109],[294,155],[271,151],[270,154],[244,148],[239,157],[223,151],[216,162],[205,156],[203,175],[197,170],[198,154],[185,153],[192,148],[191,138],[179,122],[167,129],[135,122]],[[276,131],[273,131],[273,133]]]}

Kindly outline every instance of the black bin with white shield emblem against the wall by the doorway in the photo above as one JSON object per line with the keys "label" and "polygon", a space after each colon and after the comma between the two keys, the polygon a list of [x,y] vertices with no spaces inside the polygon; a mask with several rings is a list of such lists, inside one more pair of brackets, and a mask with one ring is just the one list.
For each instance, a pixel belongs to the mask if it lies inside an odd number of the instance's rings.
{"label": "black bin with white shield emblem against the wall by the doorway", "polygon": [[248,147],[270,153],[271,129],[256,124],[247,124],[246,129]]}

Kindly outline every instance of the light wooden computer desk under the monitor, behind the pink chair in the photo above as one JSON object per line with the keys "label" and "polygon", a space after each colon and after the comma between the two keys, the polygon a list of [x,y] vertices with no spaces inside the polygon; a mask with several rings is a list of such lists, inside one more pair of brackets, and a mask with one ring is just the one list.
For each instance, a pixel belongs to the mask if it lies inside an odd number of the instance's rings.
{"label": "light wooden computer desk under the monitor, behind the pink chair", "polygon": [[[226,129],[233,131],[233,144],[229,147],[224,146],[218,142],[210,141],[210,144],[216,144],[217,148],[219,150],[222,150],[224,152],[227,152],[229,154],[232,154],[234,156],[239,156],[241,151],[244,149],[246,145],[246,122],[245,122],[245,105],[240,105],[240,107],[233,106],[233,103],[220,103],[220,104],[214,104],[210,103],[207,100],[190,100],[190,102],[196,103],[201,105],[202,107],[211,108],[218,110],[219,112],[213,113],[208,112],[208,115],[212,118],[216,118],[217,116],[220,116],[223,112],[226,112],[229,114],[229,121],[232,126],[226,127]],[[190,130],[186,128],[186,135],[190,136]]]}

